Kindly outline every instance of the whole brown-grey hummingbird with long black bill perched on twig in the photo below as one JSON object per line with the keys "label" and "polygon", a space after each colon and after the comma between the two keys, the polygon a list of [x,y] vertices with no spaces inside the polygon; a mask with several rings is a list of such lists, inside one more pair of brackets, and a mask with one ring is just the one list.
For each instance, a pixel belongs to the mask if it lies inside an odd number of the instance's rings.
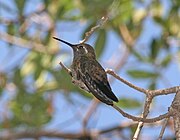
{"label": "whole brown-grey hummingbird with long black bill perched on twig", "polygon": [[73,61],[70,67],[72,83],[81,89],[92,93],[101,102],[113,106],[113,101],[118,102],[104,68],[96,60],[95,50],[86,43],[71,44],[62,39],[54,39],[65,43],[73,50]]}

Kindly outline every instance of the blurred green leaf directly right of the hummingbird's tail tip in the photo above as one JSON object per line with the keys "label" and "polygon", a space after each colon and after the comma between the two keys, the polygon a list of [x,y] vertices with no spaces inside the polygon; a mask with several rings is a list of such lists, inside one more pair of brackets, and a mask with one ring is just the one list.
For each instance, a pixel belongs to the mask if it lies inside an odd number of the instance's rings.
{"label": "blurred green leaf directly right of the hummingbird's tail tip", "polygon": [[141,103],[136,99],[120,98],[117,106],[127,109],[134,109],[141,106]]}

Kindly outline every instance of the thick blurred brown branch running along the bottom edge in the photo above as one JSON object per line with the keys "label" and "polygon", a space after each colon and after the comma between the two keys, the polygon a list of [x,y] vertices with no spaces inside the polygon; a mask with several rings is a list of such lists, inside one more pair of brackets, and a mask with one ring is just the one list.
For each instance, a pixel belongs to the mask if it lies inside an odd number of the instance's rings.
{"label": "thick blurred brown branch running along the bottom edge", "polygon": [[[24,131],[18,131],[18,132],[11,131],[11,132],[0,133],[0,139],[2,140],[23,139],[23,138],[37,139],[41,137],[61,138],[61,139],[83,139],[83,138],[87,139],[87,138],[93,138],[94,135],[98,137],[101,134],[111,133],[113,131],[121,131],[123,129],[132,128],[136,125],[137,123],[135,122],[123,122],[119,125],[116,125],[110,128],[108,127],[101,130],[88,131],[86,135],[84,135],[83,132],[66,133],[66,132],[60,132],[60,131],[54,131],[54,130],[24,130]],[[157,125],[161,125],[161,123],[148,124],[148,125],[157,126]]]}

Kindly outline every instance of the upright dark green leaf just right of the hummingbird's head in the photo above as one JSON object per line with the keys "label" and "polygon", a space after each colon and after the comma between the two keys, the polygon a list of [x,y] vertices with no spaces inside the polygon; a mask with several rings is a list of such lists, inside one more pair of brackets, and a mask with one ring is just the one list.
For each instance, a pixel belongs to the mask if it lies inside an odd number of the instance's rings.
{"label": "upright dark green leaf just right of the hummingbird's head", "polygon": [[99,58],[106,44],[106,31],[100,30],[95,43],[96,56]]}

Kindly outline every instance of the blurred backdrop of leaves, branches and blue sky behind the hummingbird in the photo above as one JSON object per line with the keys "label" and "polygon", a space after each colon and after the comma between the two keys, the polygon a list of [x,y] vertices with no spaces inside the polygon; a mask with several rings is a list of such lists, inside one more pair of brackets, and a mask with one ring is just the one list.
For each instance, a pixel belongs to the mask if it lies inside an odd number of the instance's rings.
{"label": "blurred backdrop of leaves, branches and blue sky behind the hummingbird", "polygon": [[[146,89],[180,84],[179,0],[0,0],[0,139],[131,139],[137,124],[71,83],[72,50],[56,36],[88,44],[104,68]],[[117,105],[139,116],[145,96],[113,77]],[[149,117],[167,112],[174,95],[153,100]],[[141,139],[157,139],[162,122]],[[84,133],[83,133],[84,132]],[[89,134],[84,137],[85,134]],[[170,120],[164,139],[173,139]]]}

